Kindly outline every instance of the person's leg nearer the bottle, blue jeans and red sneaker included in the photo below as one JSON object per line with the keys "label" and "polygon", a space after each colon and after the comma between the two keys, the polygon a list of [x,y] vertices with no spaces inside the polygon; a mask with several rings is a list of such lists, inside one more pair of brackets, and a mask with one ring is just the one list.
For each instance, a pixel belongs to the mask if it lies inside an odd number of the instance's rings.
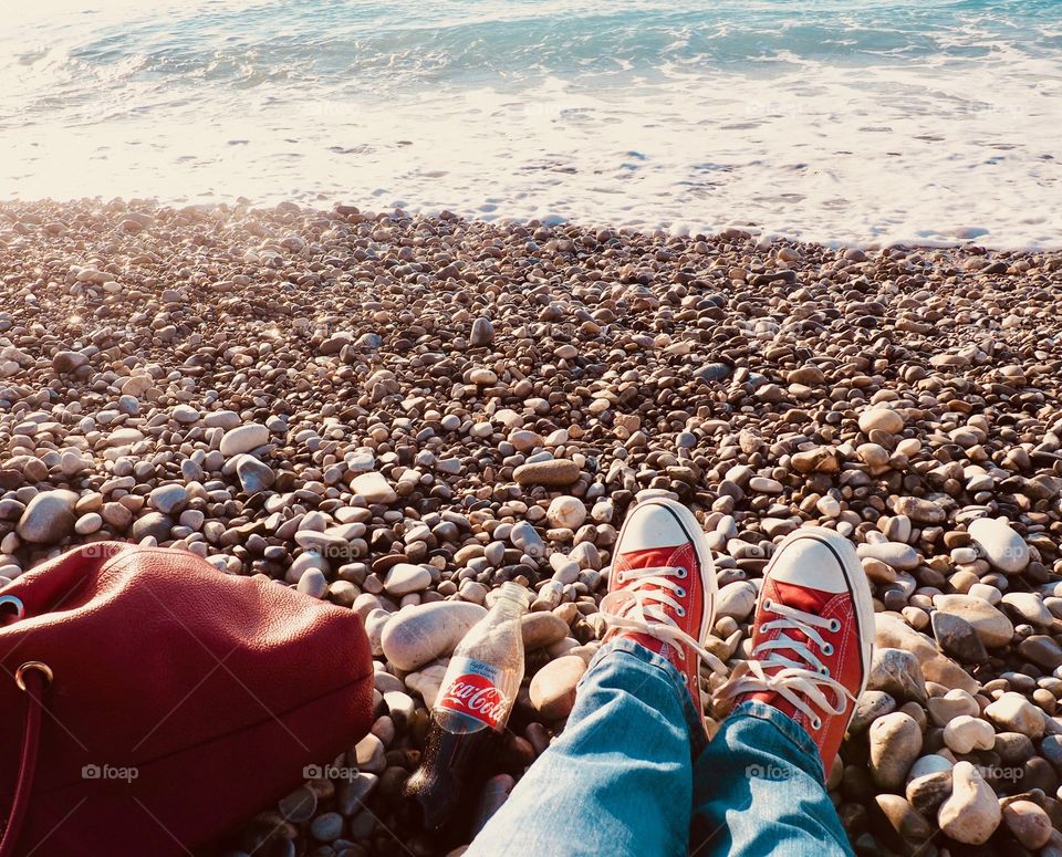
{"label": "person's leg nearer the bottle, blue jeans and red sneaker included", "polygon": [[580,681],[563,734],[531,766],[466,857],[685,855],[693,753],[704,745],[698,658],[716,576],[697,520],[639,503],[616,541],[612,630]]}

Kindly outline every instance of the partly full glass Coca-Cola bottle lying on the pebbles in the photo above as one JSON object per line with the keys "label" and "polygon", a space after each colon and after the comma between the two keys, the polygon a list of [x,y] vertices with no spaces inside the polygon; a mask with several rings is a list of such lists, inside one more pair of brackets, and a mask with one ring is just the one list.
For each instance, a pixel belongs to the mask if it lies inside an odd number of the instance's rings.
{"label": "partly full glass Coca-Cola bottle lying on the pebbles", "polygon": [[454,829],[468,818],[462,804],[482,784],[490,744],[509,720],[523,680],[520,617],[528,591],[504,583],[490,613],[465,635],[447,667],[431,710],[420,766],[406,781],[403,811],[421,829]]}

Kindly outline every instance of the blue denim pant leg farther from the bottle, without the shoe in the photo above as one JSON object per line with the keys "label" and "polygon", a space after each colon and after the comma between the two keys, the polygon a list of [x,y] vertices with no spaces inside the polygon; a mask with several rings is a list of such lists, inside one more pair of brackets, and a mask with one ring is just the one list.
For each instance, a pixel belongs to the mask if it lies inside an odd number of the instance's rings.
{"label": "blue denim pant leg farther from the bottle, without the shoe", "polygon": [[852,854],[818,748],[771,706],[738,706],[697,760],[694,780],[696,857]]}

